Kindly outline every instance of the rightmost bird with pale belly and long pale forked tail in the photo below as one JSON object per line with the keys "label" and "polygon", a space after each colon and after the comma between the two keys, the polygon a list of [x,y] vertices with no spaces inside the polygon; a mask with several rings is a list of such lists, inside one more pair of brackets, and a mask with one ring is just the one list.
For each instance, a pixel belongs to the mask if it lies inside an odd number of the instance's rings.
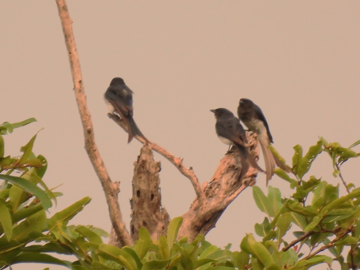
{"label": "rightmost bird with pale belly and long pale forked tail", "polygon": [[250,131],[257,134],[264,155],[266,186],[274,175],[275,165],[284,171],[289,172],[289,168],[282,163],[278,157],[274,156],[268,147],[274,143],[274,141],[273,136],[271,136],[270,133],[269,125],[267,124],[264,113],[262,113],[260,107],[250,99],[242,98],[239,101],[238,117]]}

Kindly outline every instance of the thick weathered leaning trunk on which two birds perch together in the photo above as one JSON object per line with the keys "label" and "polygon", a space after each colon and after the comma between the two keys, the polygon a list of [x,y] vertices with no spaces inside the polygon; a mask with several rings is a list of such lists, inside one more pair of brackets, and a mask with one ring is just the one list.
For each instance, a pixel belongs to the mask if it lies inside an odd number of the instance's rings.
{"label": "thick weathered leaning trunk on which two birds perch together", "polygon": [[[250,152],[258,155],[256,135],[247,133]],[[198,234],[206,235],[215,227],[226,207],[248,186],[255,184],[257,172],[250,168],[244,179],[241,176],[240,155],[237,151],[225,154],[209,183],[203,186],[207,201],[201,205],[195,198],[183,217],[178,239],[184,236],[192,241]]]}

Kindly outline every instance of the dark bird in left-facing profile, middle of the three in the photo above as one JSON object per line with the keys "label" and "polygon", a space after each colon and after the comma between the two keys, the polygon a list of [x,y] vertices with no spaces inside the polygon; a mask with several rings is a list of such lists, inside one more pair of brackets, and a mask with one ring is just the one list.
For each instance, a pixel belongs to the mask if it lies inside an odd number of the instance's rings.
{"label": "dark bird in left-facing profile, middle of the three", "polygon": [[215,131],[219,139],[228,145],[235,145],[239,150],[241,159],[241,176],[244,177],[249,169],[249,165],[256,168],[258,171],[264,172],[260,168],[247,147],[246,132],[237,117],[232,112],[225,108],[218,108],[210,110],[215,114],[216,124]]}

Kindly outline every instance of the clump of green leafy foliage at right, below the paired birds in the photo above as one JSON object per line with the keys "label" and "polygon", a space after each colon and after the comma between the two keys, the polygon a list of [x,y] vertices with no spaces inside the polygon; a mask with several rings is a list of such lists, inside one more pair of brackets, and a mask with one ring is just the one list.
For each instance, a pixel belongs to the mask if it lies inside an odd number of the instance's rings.
{"label": "clump of green leafy foliage at right, below the paired birds", "polygon": [[[331,157],[333,175],[341,176],[340,166],[349,158],[359,156],[350,149],[357,144],[359,141],[345,148],[320,138],[305,156],[302,147],[296,145],[292,159],[293,177],[280,168],[275,170],[294,189],[289,198],[282,198],[277,188],[269,186],[266,196],[260,188],[253,186],[256,205],[266,217],[261,224],[255,224],[255,232],[262,240],[256,242],[253,235],[248,234],[240,245],[251,255],[251,269],[309,269],[321,263],[331,266],[334,260],[341,269],[360,268],[360,188],[346,185],[342,179],[348,194],[339,196],[339,184],[334,186],[313,175],[304,179],[321,152]],[[285,240],[289,239],[287,231],[293,225],[298,230],[293,231],[295,238],[288,243]],[[344,258],[346,246],[350,250],[346,249],[349,251]],[[324,255],[325,250],[333,257]]]}

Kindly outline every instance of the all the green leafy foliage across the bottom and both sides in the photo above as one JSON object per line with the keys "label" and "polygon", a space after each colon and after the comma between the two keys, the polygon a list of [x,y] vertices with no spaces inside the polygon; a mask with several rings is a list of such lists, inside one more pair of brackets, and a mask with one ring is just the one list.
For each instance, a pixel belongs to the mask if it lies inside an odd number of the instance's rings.
{"label": "all the green leafy foliage across the bottom and both sides", "polygon": [[[223,249],[213,246],[202,235],[191,243],[186,237],[177,240],[181,217],[173,219],[167,235],[158,240],[141,228],[134,246],[118,248],[103,243],[108,234],[102,229],[68,225],[90,202],[88,197],[47,217],[46,211],[62,194],[42,181],[47,163],[32,152],[36,135],[21,148],[21,157],[4,156],[2,135],[33,121],[0,125],[0,269],[21,262],[58,264],[74,270],[305,270],[323,263],[329,267],[338,264],[342,270],[360,268],[360,188],[346,184],[340,171],[344,162],[359,156],[350,148],[360,141],[345,148],[320,138],[304,156],[302,147],[296,145],[292,174],[275,170],[294,192],[283,198],[278,188],[269,186],[266,195],[253,186],[256,205],[266,216],[255,224],[257,236],[247,234],[242,239],[240,251],[231,252],[230,244]],[[275,149],[271,151],[278,155]],[[321,152],[329,154],[333,175],[341,178],[346,195],[339,195],[339,184],[314,175],[306,177]],[[283,161],[280,156],[279,160]],[[12,175],[14,171],[21,175]],[[76,261],[60,260],[49,253],[72,255]]]}

